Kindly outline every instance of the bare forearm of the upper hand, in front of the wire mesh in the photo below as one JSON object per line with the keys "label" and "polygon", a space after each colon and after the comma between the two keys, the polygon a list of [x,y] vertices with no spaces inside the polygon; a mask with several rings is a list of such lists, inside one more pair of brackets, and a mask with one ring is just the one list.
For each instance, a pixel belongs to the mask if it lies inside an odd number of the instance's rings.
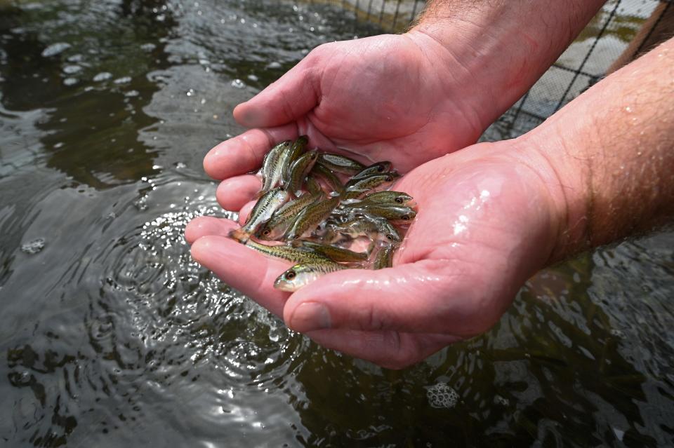
{"label": "bare forearm of the upper hand, in front of the wire mesh", "polygon": [[[605,0],[431,0],[409,34],[440,43],[470,74],[491,123],[557,60]],[[442,65],[439,64],[439,67]],[[456,77],[456,69],[446,76]]]}

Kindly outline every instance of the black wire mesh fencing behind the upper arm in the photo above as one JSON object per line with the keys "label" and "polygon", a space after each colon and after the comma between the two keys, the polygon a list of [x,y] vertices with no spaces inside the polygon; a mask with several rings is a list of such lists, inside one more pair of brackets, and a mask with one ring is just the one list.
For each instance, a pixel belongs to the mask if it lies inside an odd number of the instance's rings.
{"label": "black wire mesh fencing behind the upper arm", "polygon": [[[353,13],[355,34],[403,32],[423,10],[421,0],[338,0]],[[334,3],[327,0],[327,3]],[[485,131],[481,140],[517,137],[535,128],[574,97],[602,79],[628,48],[642,25],[656,13],[674,8],[674,0],[609,0],[571,46],[513,107]],[[658,6],[660,6],[659,9]],[[664,6],[664,10],[663,10]],[[642,42],[647,42],[650,29]],[[376,34],[376,31],[375,31]],[[637,49],[637,53],[642,48]]]}

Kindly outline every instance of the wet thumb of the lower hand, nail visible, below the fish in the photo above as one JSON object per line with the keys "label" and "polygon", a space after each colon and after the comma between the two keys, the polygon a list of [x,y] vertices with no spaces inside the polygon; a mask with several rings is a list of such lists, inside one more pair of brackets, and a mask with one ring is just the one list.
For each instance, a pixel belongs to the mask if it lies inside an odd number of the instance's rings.
{"label": "wet thumb of the lower hand, nail visible, below the fish", "polygon": [[495,313],[484,298],[473,297],[473,282],[449,264],[423,260],[330,273],[291,296],[284,320],[298,332],[338,328],[473,336],[487,330],[503,310]]}

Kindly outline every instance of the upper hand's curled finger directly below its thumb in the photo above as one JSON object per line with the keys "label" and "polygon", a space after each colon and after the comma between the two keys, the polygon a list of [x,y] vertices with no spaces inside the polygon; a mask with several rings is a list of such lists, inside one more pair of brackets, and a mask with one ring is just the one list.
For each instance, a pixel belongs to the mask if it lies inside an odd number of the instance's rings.
{"label": "upper hand's curled finger directly below its thumb", "polygon": [[267,152],[283,140],[298,137],[296,125],[251,129],[213,147],[204,157],[204,170],[213,179],[226,179],[260,168]]}

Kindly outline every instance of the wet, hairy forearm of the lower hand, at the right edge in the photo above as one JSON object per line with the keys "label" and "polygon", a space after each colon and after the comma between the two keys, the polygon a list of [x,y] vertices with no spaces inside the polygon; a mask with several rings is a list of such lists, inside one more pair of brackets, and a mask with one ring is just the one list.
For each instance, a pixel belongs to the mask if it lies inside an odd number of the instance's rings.
{"label": "wet, hairy forearm of the lower hand, at the right edge", "polygon": [[[674,39],[521,137],[559,205],[551,261],[674,219]],[[546,167],[547,168],[543,168]]]}

